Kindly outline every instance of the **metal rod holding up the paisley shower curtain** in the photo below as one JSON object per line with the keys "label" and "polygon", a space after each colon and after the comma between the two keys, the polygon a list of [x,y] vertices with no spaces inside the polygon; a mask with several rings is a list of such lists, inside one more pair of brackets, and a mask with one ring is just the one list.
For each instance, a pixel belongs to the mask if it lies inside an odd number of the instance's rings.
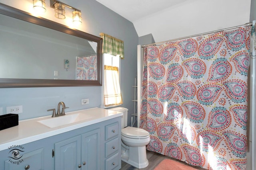
{"label": "metal rod holding up the paisley shower curtain", "polygon": [[197,36],[200,36],[200,35],[206,35],[206,34],[210,34],[210,33],[217,33],[217,32],[220,32],[220,31],[227,31],[227,30],[230,30],[230,29],[236,29],[236,28],[239,28],[239,27],[243,27],[243,26],[251,26],[252,25],[252,22],[248,22],[244,25],[238,25],[236,27],[230,27],[230,28],[226,28],[226,29],[219,29],[219,30],[216,30],[216,31],[210,31],[210,32],[207,32],[207,33],[201,33],[201,34],[196,34],[196,35],[191,35],[191,36],[187,36],[187,37],[182,37],[182,38],[177,38],[177,39],[171,39],[171,40],[168,40],[168,41],[162,41],[162,42],[159,42],[159,43],[153,43],[153,44],[148,44],[148,45],[142,45],[141,47],[146,47],[146,46],[149,46],[149,45],[156,45],[156,44],[162,44],[162,43],[167,43],[167,42],[172,42],[172,41],[178,41],[180,39],[186,39],[186,38],[191,38],[191,37],[197,37]]}

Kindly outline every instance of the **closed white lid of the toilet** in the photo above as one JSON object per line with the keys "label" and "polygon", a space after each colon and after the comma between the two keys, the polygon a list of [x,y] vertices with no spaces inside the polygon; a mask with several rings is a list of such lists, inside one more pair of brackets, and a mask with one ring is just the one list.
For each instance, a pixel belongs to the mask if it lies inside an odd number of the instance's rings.
{"label": "closed white lid of the toilet", "polygon": [[140,129],[138,127],[130,127],[130,126],[122,129],[121,133],[125,137],[135,138],[135,139],[147,138],[149,135],[148,131],[145,131],[144,129]]}

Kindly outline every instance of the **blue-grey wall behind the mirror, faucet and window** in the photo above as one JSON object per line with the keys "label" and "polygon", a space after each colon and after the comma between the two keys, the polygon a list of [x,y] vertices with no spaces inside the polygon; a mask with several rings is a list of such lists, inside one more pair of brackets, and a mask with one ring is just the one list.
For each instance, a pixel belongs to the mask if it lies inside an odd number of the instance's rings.
{"label": "blue-grey wall behind the mirror, faucet and window", "polygon": [[[0,2],[9,5],[9,2],[5,0],[0,0]],[[62,2],[67,3],[65,0]],[[130,114],[133,111],[133,102],[131,101],[133,99],[132,86],[134,85],[134,78],[137,73],[138,35],[134,29],[134,25],[95,0],[72,0],[67,4],[82,11],[82,21],[86,25],[87,33],[99,36],[101,32],[104,32],[124,41],[125,59],[121,60],[120,85],[124,102],[122,107],[129,109],[128,125],[130,125]],[[23,113],[19,114],[20,120],[51,115],[52,113],[46,110],[57,108],[58,102],[60,101],[65,102],[66,106],[69,107],[66,109],[66,112],[68,112],[99,107],[102,100],[101,86],[0,88],[0,94],[0,107],[3,109],[3,114],[6,113],[6,107],[8,106],[23,106]],[[83,98],[89,98],[90,104],[81,105],[81,99]]]}

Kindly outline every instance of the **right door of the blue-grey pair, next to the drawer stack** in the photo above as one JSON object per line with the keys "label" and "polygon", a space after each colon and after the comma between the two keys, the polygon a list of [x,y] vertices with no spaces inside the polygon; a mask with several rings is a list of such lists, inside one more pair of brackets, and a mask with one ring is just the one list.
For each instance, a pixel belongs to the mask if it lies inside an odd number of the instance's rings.
{"label": "right door of the blue-grey pair, next to the drawer stack", "polygon": [[100,129],[82,134],[81,160],[82,170],[100,170]]}

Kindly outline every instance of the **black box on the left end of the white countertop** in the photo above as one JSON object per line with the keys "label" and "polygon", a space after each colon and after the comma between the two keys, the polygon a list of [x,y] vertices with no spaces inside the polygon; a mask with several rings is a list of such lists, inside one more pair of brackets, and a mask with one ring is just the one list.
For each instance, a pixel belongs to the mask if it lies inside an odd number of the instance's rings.
{"label": "black box on the left end of the white countertop", "polygon": [[18,114],[6,114],[0,115],[0,130],[7,129],[19,125]]}

